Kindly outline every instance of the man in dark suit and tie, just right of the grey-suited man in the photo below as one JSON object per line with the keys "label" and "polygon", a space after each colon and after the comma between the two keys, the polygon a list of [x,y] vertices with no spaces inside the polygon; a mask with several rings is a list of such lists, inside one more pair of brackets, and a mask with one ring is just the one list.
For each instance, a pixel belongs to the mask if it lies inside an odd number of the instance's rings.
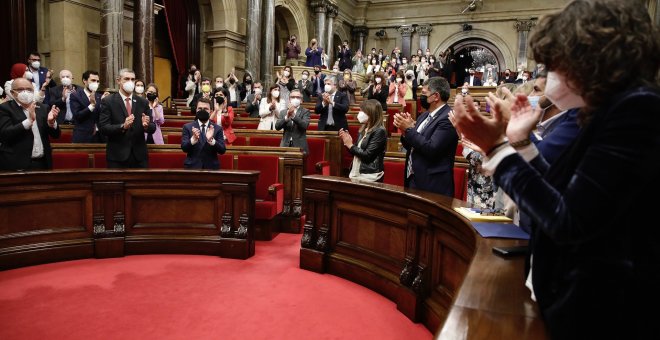
{"label": "man in dark suit and tie, just right of the grey-suited man", "polygon": [[319,131],[348,130],[346,113],[348,112],[348,96],[337,91],[334,77],[325,78],[325,92],[316,101],[316,112],[319,117]]}

